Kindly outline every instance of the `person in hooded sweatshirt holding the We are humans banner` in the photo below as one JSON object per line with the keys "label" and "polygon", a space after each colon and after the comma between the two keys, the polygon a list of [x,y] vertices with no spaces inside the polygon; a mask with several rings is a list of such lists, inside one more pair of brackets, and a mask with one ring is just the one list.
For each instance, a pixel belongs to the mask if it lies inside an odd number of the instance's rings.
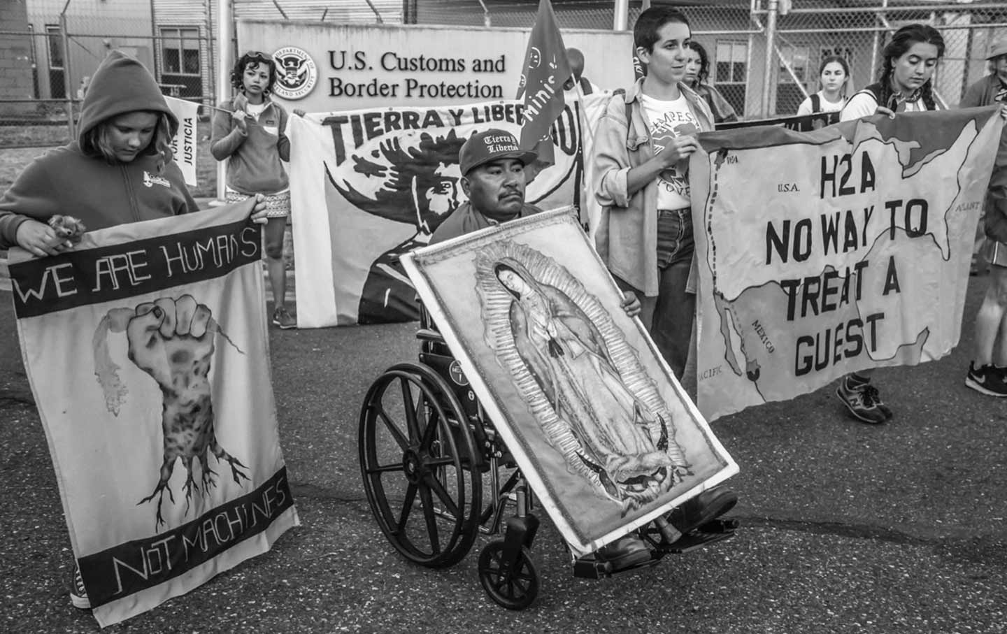
{"label": "person in hooded sweatshirt holding the We are humans banner", "polygon": [[[39,257],[73,249],[46,223],[58,213],[94,230],[198,210],[171,160],[178,121],[139,61],[109,54],[88,89],[80,125],[77,141],[36,158],[0,198],[0,249],[18,246]],[[252,219],[266,221],[261,198]],[[70,600],[91,607],[80,571]]]}

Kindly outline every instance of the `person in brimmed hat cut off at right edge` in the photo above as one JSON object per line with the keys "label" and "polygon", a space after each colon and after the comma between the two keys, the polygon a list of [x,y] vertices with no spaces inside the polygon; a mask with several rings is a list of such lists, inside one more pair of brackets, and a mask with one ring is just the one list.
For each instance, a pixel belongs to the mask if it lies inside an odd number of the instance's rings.
{"label": "person in brimmed hat cut off at right edge", "polygon": [[[969,87],[960,106],[1000,104],[1007,119],[1007,38],[990,46],[986,57],[991,72]],[[993,174],[986,194],[982,234],[977,245],[990,265],[986,296],[976,314],[976,350],[965,384],[990,397],[1007,397],[1007,135],[1001,135]]]}

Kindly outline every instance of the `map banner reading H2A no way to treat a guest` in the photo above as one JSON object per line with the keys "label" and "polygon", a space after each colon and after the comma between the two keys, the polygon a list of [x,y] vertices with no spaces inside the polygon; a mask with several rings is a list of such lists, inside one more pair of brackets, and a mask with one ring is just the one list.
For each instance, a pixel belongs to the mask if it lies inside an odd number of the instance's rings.
{"label": "map banner reading H2A no way to treat a guest", "polygon": [[708,419],[958,344],[994,113],[701,135],[689,167]]}

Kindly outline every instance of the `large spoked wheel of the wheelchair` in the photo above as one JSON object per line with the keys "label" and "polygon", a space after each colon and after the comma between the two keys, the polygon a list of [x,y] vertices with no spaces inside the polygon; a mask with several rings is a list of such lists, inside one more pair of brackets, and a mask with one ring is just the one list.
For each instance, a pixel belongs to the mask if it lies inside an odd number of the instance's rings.
{"label": "large spoked wheel of the wheelchair", "polygon": [[368,501],[392,545],[428,568],[460,562],[478,533],[482,480],[446,381],[425,365],[392,366],[368,390],[358,440]]}

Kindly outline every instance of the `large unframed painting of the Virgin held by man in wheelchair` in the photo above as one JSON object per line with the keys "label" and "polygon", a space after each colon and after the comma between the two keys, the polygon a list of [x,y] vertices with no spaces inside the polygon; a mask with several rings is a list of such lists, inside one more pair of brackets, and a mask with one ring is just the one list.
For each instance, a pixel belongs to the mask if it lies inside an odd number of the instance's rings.
{"label": "large unframed painting of the Virgin held by man in wheelchair", "polygon": [[403,264],[575,553],[737,473],[569,209],[419,249]]}

